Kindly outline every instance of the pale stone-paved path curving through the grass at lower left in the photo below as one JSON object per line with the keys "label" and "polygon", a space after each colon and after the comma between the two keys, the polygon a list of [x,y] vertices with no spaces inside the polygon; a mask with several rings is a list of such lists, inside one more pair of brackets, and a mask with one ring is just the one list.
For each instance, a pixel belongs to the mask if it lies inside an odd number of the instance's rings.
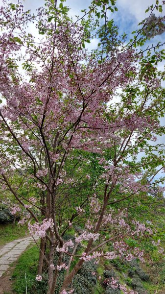
{"label": "pale stone-paved path curving through the grass at lower left", "polygon": [[7,243],[0,249],[0,277],[31,242],[34,242],[32,237],[25,237]]}

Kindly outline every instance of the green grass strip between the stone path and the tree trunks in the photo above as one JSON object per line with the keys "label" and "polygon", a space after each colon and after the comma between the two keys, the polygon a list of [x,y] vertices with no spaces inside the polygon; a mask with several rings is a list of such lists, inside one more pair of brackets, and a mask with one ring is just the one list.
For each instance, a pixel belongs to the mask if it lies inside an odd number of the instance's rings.
{"label": "green grass strip between the stone path and the tree trunks", "polygon": [[24,294],[26,288],[25,274],[27,281],[27,294],[35,283],[39,249],[36,245],[28,248],[19,258],[12,277],[14,278],[13,290],[17,294]]}

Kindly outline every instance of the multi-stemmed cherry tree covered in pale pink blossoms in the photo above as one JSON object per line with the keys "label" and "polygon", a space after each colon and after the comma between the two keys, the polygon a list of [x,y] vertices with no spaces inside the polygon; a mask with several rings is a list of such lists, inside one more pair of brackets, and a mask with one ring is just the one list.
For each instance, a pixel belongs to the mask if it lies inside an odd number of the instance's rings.
{"label": "multi-stemmed cherry tree covered in pale pink blossoms", "polygon": [[[45,4],[35,14],[20,1],[0,8],[0,183],[17,200],[13,214],[22,211],[21,223],[41,239],[36,280],[46,269],[53,294],[66,270],[64,294],[84,262],[142,260],[141,242],[159,233],[130,219],[126,200],[164,191],[165,145],[157,136],[165,134],[158,70],[165,52],[149,40],[165,31],[165,17],[154,15],[162,12],[157,0],[126,42],[108,20],[114,0],[92,1],[75,21],[64,0]],[[88,50],[94,38],[98,46]],[[66,242],[75,224],[82,231]]]}

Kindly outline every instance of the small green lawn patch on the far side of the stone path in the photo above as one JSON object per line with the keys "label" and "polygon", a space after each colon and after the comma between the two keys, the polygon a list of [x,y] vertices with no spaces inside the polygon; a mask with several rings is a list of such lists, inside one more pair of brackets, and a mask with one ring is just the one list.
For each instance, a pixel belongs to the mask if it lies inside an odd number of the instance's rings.
{"label": "small green lawn patch on the far side of the stone path", "polygon": [[9,224],[0,224],[0,246],[25,236],[25,227]]}

